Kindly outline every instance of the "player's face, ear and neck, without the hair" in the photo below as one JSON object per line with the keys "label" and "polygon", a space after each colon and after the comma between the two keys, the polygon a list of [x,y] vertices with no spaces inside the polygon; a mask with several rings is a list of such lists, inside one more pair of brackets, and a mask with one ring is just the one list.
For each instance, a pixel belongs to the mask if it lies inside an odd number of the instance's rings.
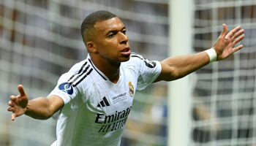
{"label": "player's face, ear and neck, without the hair", "polygon": [[91,33],[97,36],[86,43],[91,60],[111,82],[116,83],[121,62],[128,61],[130,57],[129,39],[124,23],[119,18],[97,22]]}

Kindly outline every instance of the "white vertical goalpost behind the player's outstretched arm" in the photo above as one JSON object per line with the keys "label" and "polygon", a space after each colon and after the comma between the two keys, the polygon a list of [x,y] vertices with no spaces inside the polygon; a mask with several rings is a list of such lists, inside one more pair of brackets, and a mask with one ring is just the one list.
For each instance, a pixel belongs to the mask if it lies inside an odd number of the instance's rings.
{"label": "white vertical goalpost behind the player's outstretched arm", "polygon": [[[192,53],[193,0],[169,1],[170,56]],[[189,76],[168,85],[168,145],[188,146],[191,123]]]}

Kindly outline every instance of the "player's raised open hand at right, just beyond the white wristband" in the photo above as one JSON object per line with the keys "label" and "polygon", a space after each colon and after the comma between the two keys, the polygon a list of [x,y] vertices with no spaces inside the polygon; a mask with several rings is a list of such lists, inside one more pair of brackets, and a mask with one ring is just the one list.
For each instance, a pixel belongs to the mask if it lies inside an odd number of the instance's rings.
{"label": "player's raised open hand at right, just beyond the white wristband", "polygon": [[227,26],[223,26],[222,34],[219,35],[217,42],[214,44],[213,48],[217,53],[217,61],[227,58],[232,53],[240,50],[243,45],[234,47],[238,42],[244,39],[244,29],[241,26],[237,26],[227,34]]}

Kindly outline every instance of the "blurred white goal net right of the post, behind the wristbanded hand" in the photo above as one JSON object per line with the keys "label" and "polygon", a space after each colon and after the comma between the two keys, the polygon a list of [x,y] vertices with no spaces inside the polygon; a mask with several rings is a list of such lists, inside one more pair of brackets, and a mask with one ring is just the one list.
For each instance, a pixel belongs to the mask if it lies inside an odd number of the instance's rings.
{"label": "blurred white goal net right of the post, behind the wristbanded hand", "polygon": [[190,145],[256,144],[256,1],[195,0],[194,50],[214,45],[222,31],[242,26],[245,38],[225,61],[197,71]]}

